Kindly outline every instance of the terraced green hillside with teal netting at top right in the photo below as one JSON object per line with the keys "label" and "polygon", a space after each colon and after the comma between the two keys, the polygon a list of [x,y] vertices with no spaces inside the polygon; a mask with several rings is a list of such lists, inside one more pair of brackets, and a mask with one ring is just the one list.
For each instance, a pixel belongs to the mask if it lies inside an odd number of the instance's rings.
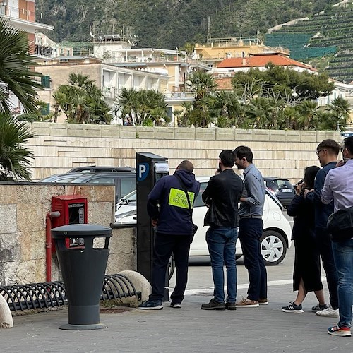
{"label": "terraced green hillside with teal netting at top right", "polygon": [[326,8],[325,12],[283,26],[265,36],[269,46],[287,47],[293,59],[323,68],[331,78],[353,81],[353,4]]}

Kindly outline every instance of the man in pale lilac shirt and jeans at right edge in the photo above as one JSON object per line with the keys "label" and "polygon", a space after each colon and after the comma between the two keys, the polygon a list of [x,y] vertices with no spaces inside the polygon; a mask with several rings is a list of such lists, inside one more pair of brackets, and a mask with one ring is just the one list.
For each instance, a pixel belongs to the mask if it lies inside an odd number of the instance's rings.
{"label": "man in pale lilac shirt and jeans at right edge", "polygon": [[[328,172],[323,190],[321,191],[321,200],[323,203],[333,201],[335,205],[335,214],[333,217],[340,217],[341,215],[349,217],[349,215],[352,215],[353,136],[345,138],[342,155],[345,164]],[[340,321],[337,325],[328,328],[330,335],[344,337],[352,336],[350,328],[352,325],[353,305],[353,232],[352,220],[349,222],[347,218],[344,221],[340,220],[339,229],[336,232],[332,232],[333,256],[338,273]]]}

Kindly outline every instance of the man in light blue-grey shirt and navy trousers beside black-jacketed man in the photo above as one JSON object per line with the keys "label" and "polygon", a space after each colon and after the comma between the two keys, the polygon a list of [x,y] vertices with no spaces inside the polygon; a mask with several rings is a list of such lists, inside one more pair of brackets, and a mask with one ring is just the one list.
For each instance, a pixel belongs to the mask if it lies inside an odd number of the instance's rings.
{"label": "man in light blue-grey shirt and navy trousers beside black-jacketed man", "polygon": [[234,155],[237,168],[244,170],[244,191],[239,208],[239,239],[244,265],[249,273],[248,297],[237,302],[237,307],[254,308],[259,304],[268,304],[267,271],[260,244],[263,234],[265,183],[261,172],[253,164],[253,152],[249,147],[237,147]]}

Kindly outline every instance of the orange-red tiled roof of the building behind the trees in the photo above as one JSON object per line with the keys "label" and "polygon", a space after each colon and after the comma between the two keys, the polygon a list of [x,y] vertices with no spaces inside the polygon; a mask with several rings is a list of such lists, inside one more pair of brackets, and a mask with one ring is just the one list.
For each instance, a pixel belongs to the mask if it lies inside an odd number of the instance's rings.
{"label": "orange-red tiled roof of the building behind the trees", "polygon": [[241,68],[241,67],[263,67],[269,63],[276,66],[298,66],[306,68],[310,71],[317,71],[309,65],[303,64],[297,60],[290,59],[282,54],[252,54],[246,58],[229,58],[224,59],[217,68]]}

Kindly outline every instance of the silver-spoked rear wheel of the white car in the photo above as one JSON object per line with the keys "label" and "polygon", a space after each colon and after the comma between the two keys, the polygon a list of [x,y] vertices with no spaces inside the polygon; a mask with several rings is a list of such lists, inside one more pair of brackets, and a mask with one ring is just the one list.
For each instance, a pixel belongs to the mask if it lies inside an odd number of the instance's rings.
{"label": "silver-spoked rear wheel of the white car", "polygon": [[285,238],[275,230],[265,230],[260,238],[261,254],[265,265],[278,265],[287,253]]}

